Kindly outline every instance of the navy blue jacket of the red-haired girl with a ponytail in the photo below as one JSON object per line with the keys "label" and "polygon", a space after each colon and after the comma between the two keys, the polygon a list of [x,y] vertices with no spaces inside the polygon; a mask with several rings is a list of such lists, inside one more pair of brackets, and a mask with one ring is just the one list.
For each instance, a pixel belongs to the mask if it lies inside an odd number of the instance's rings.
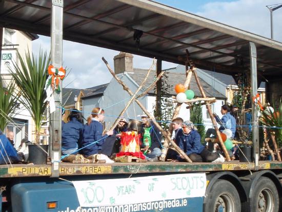
{"label": "navy blue jacket of the red-haired girl with a ponytail", "polygon": [[97,154],[98,150],[102,149],[102,145],[105,142],[105,138],[107,135],[103,136],[103,125],[95,120],[92,120],[90,125],[86,124],[82,130],[82,143],[81,146],[85,147],[88,144],[98,141],[98,143],[94,143],[82,149],[83,155],[86,157]]}

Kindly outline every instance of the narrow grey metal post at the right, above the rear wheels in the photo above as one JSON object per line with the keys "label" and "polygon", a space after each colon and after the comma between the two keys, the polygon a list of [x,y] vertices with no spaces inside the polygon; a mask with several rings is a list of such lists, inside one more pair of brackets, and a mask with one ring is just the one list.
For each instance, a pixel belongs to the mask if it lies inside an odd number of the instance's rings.
{"label": "narrow grey metal post at the right, above the rear wheels", "polygon": [[[252,97],[257,94],[257,73],[256,73],[256,46],[253,42],[249,43],[250,47],[250,64],[251,64],[251,84],[252,84]],[[259,142],[258,142],[258,117],[257,107],[252,102],[252,135],[253,135],[253,159],[255,162],[255,170],[258,170],[259,159]]]}

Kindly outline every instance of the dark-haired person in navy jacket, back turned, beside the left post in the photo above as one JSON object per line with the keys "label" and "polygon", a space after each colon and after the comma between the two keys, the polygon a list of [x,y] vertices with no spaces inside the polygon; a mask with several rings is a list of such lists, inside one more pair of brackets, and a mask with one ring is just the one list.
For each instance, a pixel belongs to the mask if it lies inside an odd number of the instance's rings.
{"label": "dark-haired person in navy jacket, back turned, beside the left post", "polygon": [[76,155],[79,140],[82,137],[83,118],[82,113],[72,109],[68,116],[68,123],[62,129],[62,155]]}

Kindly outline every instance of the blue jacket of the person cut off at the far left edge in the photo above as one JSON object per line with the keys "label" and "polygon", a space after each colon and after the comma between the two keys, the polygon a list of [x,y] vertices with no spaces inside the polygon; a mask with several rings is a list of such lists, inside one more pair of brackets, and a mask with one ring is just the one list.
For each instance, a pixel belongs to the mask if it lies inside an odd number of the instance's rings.
{"label": "blue jacket of the person cut off at the far left edge", "polygon": [[0,164],[10,164],[18,161],[16,149],[0,130]]}

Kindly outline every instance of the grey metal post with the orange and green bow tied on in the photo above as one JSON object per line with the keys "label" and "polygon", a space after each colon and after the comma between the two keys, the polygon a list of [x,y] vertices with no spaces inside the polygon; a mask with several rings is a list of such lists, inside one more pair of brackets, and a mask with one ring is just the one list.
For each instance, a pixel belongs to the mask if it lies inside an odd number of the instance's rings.
{"label": "grey metal post with the orange and green bow tied on", "polygon": [[[51,17],[51,64],[62,66],[63,50],[63,0],[52,0]],[[62,82],[59,84],[62,88]],[[62,92],[54,92],[56,110],[51,114],[50,122],[50,155],[52,159],[51,177],[59,177],[62,140]]]}

